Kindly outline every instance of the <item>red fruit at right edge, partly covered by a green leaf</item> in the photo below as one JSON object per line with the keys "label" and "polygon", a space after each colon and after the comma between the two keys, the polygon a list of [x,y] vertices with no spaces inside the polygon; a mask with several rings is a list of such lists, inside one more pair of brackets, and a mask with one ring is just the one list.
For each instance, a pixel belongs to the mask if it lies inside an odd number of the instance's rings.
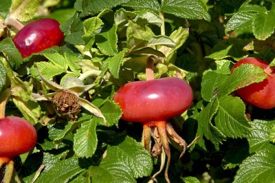
{"label": "red fruit at right edge, partly covered by a green leaf", "polygon": [[272,109],[275,107],[275,70],[272,71],[268,69],[268,63],[262,61],[259,58],[248,57],[243,58],[239,62],[237,62],[233,67],[232,71],[239,67],[241,64],[250,63],[255,66],[259,66],[265,70],[267,74],[267,78],[263,80],[261,83],[253,83],[252,85],[248,85],[247,87],[243,87],[241,89],[236,90],[236,94],[238,94],[243,100],[247,103],[260,107],[262,109]]}

